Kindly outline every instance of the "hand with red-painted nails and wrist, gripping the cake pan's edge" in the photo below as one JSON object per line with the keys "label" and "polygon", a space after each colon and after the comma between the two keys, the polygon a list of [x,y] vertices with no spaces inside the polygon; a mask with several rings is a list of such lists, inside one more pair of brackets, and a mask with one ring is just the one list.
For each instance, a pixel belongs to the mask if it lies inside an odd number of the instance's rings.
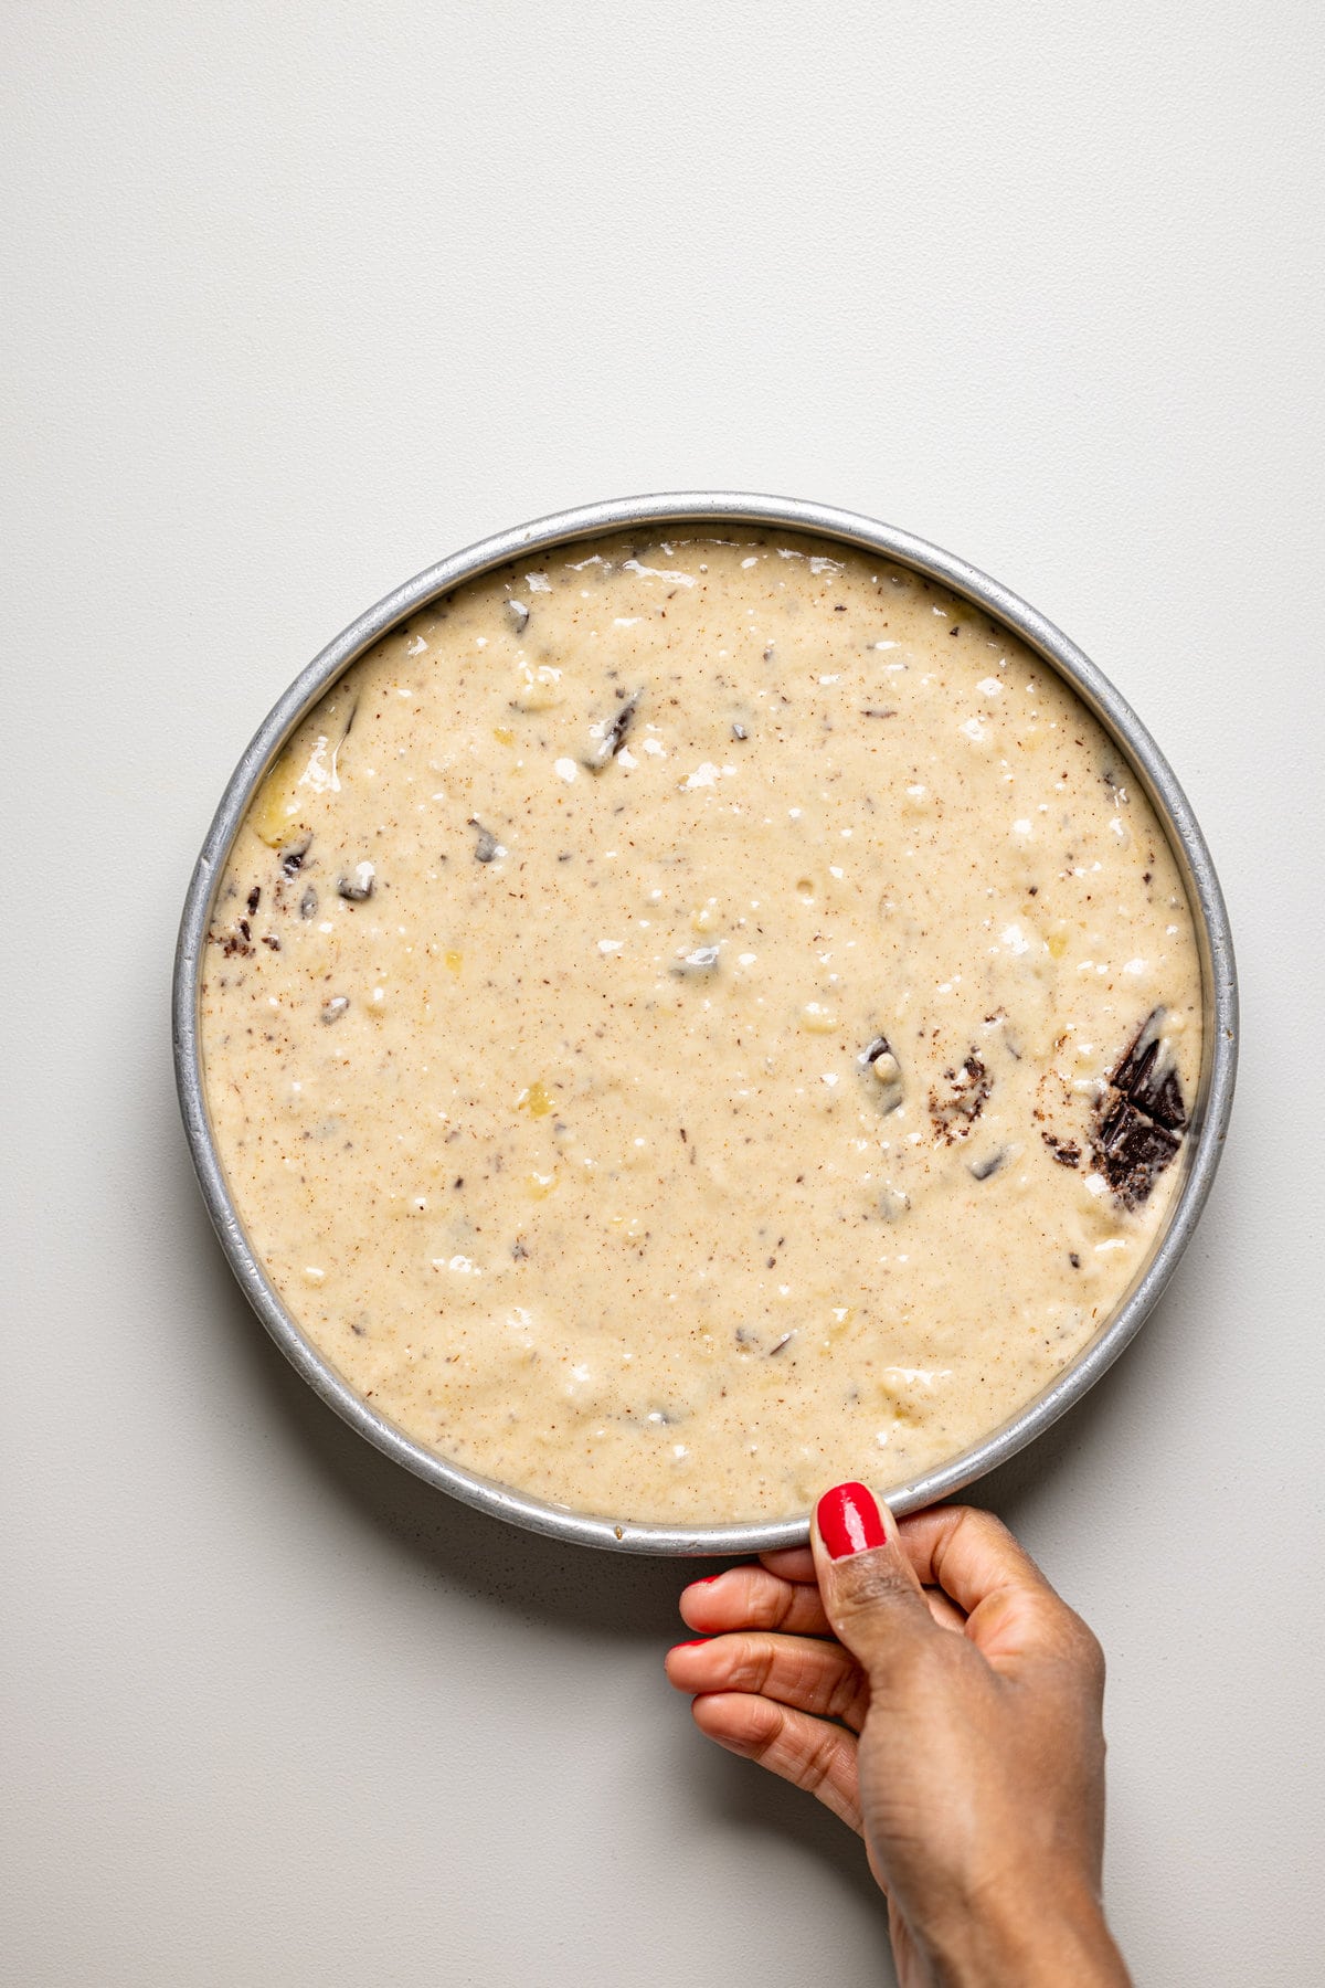
{"label": "hand with red-painted nails and wrist, gripping the cake pan's edge", "polygon": [[681,1594],[701,1732],[866,1843],[902,1988],[1126,1988],[1104,1926],[1104,1658],[989,1513],[894,1519],[864,1485],[810,1549]]}

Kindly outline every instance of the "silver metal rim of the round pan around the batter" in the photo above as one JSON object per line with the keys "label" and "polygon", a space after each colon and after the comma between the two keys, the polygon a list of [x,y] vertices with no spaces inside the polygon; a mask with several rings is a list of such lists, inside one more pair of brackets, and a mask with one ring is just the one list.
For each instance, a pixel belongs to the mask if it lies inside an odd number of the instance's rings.
{"label": "silver metal rim of the round pan around the batter", "polygon": [[1007,586],[987,579],[975,567],[967,567],[963,559],[954,559],[952,553],[944,553],[924,539],[896,531],[892,525],[878,525],[872,519],[856,517],[850,511],[801,503],[789,497],[701,491],[618,497],[586,505],[578,511],[562,511],[556,517],[536,519],[532,525],[520,525],[495,539],[483,539],[463,553],[453,553],[439,565],[429,567],[427,573],[419,573],[417,579],[397,586],[393,594],[379,600],[377,606],[362,614],[360,620],[352,622],[344,634],[324,648],[276,702],[238,761],[207,833],[185,901],[173,986],[175,1076],[185,1131],[207,1211],[252,1308],[304,1380],[360,1435],[366,1435],[387,1457],[403,1463],[405,1469],[415,1471],[415,1475],[439,1491],[449,1491],[451,1497],[475,1505],[479,1511],[530,1527],[536,1533],[552,1535],[554,1539],[606,1547],[618,1553],[767,1553],[775,1547],[803,1545],[809,1539],[809,1515],[741,1525],[636,1525],[610,1513],[566,1511],[560,1505],[526,1497],[507,1485],[493,1483],[473,1471],[459,1469],[455,1463],[447,1463],[445,1457],[415,1443],[385,1417],[377,1415],[342,1380],[318,1348],[310,1344],[258,1262],[230,1199],[203,1085],[199,978],[213,897],[248,803],[290,732],[294,732],[298,722],[342,670],[369,650],[399,620],[437,600],[439,594],[481,573],[489,573],[493,567],[501,567],[509,559],[534,553],[544,555],[558,545],[570,545],[578,539],[598,537],[600,533],[626,531],[636,525],[648,525],[663,533],[669,529],[679,533],[703,525],[755,525],[812,533],[820,539],[836,539],[842,545],[880,553],[926,579],[940,580],[956,594],[981,606],[995,620],[1011,628],[1013,634],[1021,636],[1035,654],[1043,656],[1073,686],[1104,726],[1104,732],[1126,753],[1168,835],[1192,907],[1204,996],[1202,1072],[1190,1131],[1184,1139],[1184,1179],[1180,1193],[1172,1201],[1168,1221],[1124,1300],[1057,1380],[973,1449],[965,1449],[940,1469],[928,1471],[912,1483],[890,1487],[894,1511],[914,1511],[948,1497],[995,1465],[1005,1463],[1017,1449],[1033,1441],[1033,1437],[1081,1400],[1104,1368],[1112,1366],[1164,1290],[1210,1193],[1234,1099],[1238,1062],[1234,946],[1210,851],[1186,795],[1146,728],[1101,670],[1065,634],[1047,622],[1043,614],[1037,614],[1035,608],[1019,600]]}

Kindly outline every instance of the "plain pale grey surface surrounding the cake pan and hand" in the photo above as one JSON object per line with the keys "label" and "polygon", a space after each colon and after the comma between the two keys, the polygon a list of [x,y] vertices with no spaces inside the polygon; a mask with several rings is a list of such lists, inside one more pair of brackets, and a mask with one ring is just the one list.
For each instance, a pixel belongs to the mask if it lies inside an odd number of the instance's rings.
{"label": "plain pale grey surface surrounding the cake pan and hand", "polygon": [[1224,1171],[1142,1338],[981,1495],[1110,1656],[1138,1980],[1323,1978],[1319,8],[0,32],[6,1988],[890,1978],[854,1841],[663,1684],[681,1569],[342,1429],[171,1089],[189,869],[294,672],[483,533],[705,483],[1019,588],[1208,831]]}

